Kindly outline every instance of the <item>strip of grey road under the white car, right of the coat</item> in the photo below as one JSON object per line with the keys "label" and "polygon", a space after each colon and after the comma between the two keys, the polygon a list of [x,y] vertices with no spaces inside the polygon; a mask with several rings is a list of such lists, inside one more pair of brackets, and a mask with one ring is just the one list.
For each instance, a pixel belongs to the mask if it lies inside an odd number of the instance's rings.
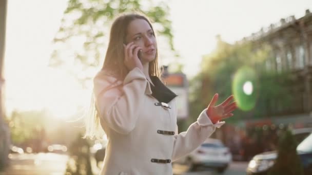
{"label": "strip of grey road under the white car, right of the coat", "polygon": [[218,173],[214,170],[205,169],[197,170],[196,172],[186,172],[188,167],[185,165],[173,165],[174,175],[214,175],[214,174],[223,174],[223,175],[244,175],[246,174],[245,170],[247,168],[248,162],[232,162],[228,169],[224,173]]}

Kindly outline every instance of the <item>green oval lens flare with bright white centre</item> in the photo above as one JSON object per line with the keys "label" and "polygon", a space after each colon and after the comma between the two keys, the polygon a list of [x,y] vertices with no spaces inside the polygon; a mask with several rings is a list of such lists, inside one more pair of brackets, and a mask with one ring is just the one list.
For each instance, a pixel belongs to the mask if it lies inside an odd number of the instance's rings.
{"label": "green oval lens flare with bright white centre", "polygon": [[232,93],[242,111],[250,111],[256,105],[258,95],[256,72],[249,67],[240,68],[233,79]]}

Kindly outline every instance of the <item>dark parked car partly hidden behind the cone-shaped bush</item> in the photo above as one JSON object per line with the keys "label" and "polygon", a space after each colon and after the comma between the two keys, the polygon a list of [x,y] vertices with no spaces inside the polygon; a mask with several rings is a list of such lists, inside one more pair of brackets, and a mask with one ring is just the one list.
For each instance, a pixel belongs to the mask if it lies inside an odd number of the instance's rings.
{"label": "dark parked car partly hidden behind the cone-shaped bush", "polygon": [[[302,162],[304,174],[312,174],[312,133],[297,146],[297,154]],[[256,155],[248,164],[247,175],[267,174],[274,165],[276,158],[277,151]]]}

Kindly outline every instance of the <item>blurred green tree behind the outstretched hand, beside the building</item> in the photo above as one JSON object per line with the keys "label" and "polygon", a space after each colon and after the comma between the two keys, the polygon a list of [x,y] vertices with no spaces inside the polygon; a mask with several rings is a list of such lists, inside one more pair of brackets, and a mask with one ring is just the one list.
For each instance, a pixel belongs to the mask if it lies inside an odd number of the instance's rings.
{"label": "blurred green tree behind the outstretched hand, beside the building", "polygon": [[274,108],[268,103],[278,103],[281,109],[289,107],[291,97],[288,89],[284,88],[289,82],[289,76],[286,72],[278,73],[265,67],[267,60],[274,59],[271,53],[272,50],[266,43],[256,46],[251,41],[244,41],[230,45],[217,36],[216,49],[203,57],[201,70],[190,81],[191,116],[197,117],[215,93],[219,94],[218,103],[233,94],[233,79],[243,67],[251,68],[257,75],[255,82],[258,83],[253,87],[257,93],[256,105],[250,111],[236,110],[236,117],[226,121],[238,122],[246,118],[267,117],[271,112],[270,108]]}

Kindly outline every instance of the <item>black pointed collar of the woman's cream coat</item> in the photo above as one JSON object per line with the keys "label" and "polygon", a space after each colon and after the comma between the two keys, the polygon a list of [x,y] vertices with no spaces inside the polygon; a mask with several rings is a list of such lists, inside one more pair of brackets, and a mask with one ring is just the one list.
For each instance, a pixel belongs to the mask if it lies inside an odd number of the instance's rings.
{"label": "black pointed collar of the woman's cream coat", "polygon": [[177,97],[178,95],[174,94],[165,84],[157,77],[151,76],[152,84],[149,84],[149,88],[151,89],[151,96],[156,98],[159,102],[169,103],[172,99]]}

